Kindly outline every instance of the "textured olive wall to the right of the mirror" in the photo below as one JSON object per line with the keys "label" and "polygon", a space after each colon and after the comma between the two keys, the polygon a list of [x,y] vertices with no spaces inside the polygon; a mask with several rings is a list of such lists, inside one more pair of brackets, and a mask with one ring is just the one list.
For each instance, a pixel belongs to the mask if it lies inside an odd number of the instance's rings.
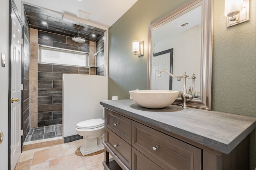
{"label": "textured olive wall to the right of the mirror", "polygon": [[[212,109],[256,117],[256,1],[250,21],[227,27],[224,0],[214,1]],[[256,167],[255,129],[250,135],[250,169]]]}

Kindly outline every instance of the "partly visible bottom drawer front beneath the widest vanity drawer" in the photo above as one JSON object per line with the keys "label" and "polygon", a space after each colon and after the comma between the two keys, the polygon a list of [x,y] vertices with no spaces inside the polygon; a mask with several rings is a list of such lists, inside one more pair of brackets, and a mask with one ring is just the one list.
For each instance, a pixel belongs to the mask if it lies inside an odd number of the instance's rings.
{"label": "partly visible bottom drawer front beneath the widest vanity drawer", "polygon": [[133,170],[163,170],[134,148],[132,148],[132,167]]}

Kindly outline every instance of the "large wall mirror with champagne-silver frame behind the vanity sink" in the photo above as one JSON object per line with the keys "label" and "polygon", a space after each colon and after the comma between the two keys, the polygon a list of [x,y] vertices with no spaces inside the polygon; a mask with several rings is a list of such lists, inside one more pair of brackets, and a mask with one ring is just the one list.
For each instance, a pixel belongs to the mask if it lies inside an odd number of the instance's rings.
{"label": "large wall mirror with champagne-silver frame behind the vanity sink", "polygon": [[[168,74],[189,76],[194,98],[188,107],[211,110],[212,0],[192,0],[148,27],[147,89],[182,91],[183,80]],[[182,105],[180,96],[173,103]]]}

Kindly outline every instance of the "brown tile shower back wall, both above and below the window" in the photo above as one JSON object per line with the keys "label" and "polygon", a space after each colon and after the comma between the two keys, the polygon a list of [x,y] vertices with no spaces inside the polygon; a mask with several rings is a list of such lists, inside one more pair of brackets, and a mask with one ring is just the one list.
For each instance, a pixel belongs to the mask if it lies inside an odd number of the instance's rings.
{"label": "brown tile shower back wall, both above and below the window", "polygon": [[[94,54],[90,42],[75,43],[72,37],[38,30],[38,44]],[[94,45],[94,43],[92,43]],[[62,74],[89,74],[89,68],[38,64],[37,126],[62,123]]]}

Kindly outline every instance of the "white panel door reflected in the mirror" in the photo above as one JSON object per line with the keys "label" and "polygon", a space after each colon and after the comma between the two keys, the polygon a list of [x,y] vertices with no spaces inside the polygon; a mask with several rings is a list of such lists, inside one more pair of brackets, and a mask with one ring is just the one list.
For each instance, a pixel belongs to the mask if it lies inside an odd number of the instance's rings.
{"label": "white panel door reflected in the mirror", "polygon": [[161,77],[158,77],[157,75],[160,70],[170,71],[170,53],[153,57],[152,62],[152,90],[169,90],[170,76],[168,74],[161,74]]}

